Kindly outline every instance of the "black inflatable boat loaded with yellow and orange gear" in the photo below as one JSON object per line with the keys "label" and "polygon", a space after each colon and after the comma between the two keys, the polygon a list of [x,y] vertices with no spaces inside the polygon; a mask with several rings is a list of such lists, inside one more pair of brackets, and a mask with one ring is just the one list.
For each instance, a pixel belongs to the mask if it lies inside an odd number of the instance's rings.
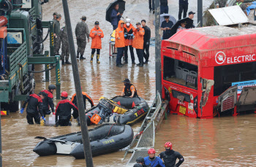
{"label": "black inflatable boat loaded with yellow and orange gear", "polygon": [[99,98],[99,104],[86,112],[88,125],[118,123],[133,125],[143,120],[148,112],[148,103],[138,96]]}

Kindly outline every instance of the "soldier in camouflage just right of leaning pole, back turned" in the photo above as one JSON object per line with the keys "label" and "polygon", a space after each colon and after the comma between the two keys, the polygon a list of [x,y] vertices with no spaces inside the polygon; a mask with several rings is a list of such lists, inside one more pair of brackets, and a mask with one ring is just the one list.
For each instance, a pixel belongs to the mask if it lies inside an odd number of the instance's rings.
{"label": "soldier in camouflage just right of leaning pole, back turned", "polygon": [[77,44],[78,44],[78,53],[77,58],[79,58],[80,53],[80,59],[86,59],[83,58],[84,50],[86,49],[86,37],[88,39],[88,42],[90,42],[89,39],[89,28],[86,24],[86,16],[82,16],[81,22],[77,24],[75,27],[75,36],[77,38]]}

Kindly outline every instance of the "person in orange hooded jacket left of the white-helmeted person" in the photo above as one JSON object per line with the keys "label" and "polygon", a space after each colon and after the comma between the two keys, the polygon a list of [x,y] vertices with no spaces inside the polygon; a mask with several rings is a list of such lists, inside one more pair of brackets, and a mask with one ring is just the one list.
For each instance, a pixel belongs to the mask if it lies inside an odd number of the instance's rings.
{"label": "person in orange hooded jacket left of the white-helmeted person", "polygon": [[122,67],[123,64],[121,63],[121,57],[124,55],[124,47],[125,47],[124,21],[122,21],[122,20],[120,20],[118,22],[118,28],[116,28],[115,45],[116,45],[116,48],[117,48],[116,66]]}

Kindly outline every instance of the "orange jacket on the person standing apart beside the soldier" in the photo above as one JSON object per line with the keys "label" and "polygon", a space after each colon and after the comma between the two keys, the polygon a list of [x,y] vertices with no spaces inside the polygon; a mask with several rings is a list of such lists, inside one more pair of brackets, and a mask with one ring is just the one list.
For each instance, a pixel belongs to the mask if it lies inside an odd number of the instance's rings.
{"label": "orange jacket on the person standing apart beside the soldier", "polygon": [[[95,36],[95,33],[97,35]],[[100,34],[100,36],[99,36]],[[102,29],[92,28],[90,32],[91,49],[102,49],[102,38],[104,37]]]}

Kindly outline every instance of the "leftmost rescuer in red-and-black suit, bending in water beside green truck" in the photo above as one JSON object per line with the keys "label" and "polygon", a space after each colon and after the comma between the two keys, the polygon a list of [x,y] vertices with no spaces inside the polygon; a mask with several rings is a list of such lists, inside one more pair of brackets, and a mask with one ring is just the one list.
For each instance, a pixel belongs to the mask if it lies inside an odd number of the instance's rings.
{"label": "leftmost rescuer in red-and-black suit, bending in water beside green truck", "polygon": [[28,121],[29,125],[34,125],[34,122],[40,124],[39,113],[41,114],[42,120],[45,120],[45,114],[42,112],[42,99],[44,98],[45,96],[43,93],[39,93],[39,95],[31,94],[26,98],[22,109],[20,109],[20,113],[22,114],[24,112],[26,104],[29,103],[26,107],[26,120]]}

